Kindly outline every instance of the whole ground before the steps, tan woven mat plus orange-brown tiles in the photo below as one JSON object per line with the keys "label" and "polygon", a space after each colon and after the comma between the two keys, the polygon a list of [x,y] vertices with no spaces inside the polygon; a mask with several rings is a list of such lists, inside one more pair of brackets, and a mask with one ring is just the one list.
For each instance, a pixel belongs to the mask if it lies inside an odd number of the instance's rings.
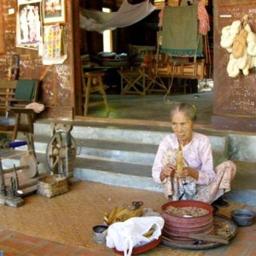
{"label": "whole ground before the steps, tan woven mat plus orange-brown tiles", "polygon": [[[116,255],[110,248],[92,241],[91,228],[102,223],[102,212],[134,200],[143,200],[144,207],[156,211],[166,201],[160,193],[79,182],[68,193],[55,198],[31,195],[23,207],[0,206],[0,249],[4,255],[14,256]],[[231,210],[236,208],[252,207],[230,202],[230,207],[219,208],[218,213],[230,217]],[[143,255],[256,255],[256,224],[237,231],[229,245],[214,249],[192,251],[160,245]]]}

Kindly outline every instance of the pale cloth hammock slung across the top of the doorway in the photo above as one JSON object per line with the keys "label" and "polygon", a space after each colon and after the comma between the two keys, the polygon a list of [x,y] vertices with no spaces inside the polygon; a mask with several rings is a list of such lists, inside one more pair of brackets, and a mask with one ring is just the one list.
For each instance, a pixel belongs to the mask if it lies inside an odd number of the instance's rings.
{"label": "pale cloth hammock slung across the top of the doorway", "polygon": [[113,30],[117,27],[131,26],[137,21],[143,20],[152,11],[154,11],[154,5],[149,3],[149,0],[137,4],[131,4],[124,0],[119,10],[112,13],[82,9],[80,28],[102,33],[105,30]]}

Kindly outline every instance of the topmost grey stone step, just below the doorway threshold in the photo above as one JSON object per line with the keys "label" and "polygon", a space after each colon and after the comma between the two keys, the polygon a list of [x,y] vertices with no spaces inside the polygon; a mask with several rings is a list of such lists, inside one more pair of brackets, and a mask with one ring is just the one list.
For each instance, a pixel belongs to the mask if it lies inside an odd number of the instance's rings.
{"label": "topmost grey stone step, just below the doorway threshold", "polygon": [[[64,122],[64,121],[63,121]],[[67,122],[68,123],[68,122]],[[79,139],[102,139],[107,141],[121,141],[128,143],[150,143],[158,145],[160,140],[171,129],[166,127],[152,127],[143,125],[106,125],[86,122],[73,122],[73,137]],[[34,124],[35,133],[50,137],[49,122]],[[196,131],[206,134],[212,143],[212,150],[228,154],[231,160],[256,163],[256,136],[253,133],[235,131],[212,131],[206,128],[197,128]]]}

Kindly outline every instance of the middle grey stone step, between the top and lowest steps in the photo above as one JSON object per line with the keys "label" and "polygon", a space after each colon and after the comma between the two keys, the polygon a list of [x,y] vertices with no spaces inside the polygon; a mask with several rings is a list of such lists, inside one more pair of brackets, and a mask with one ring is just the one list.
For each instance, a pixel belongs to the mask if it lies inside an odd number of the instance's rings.
{"label": "middle grey stone step, between the top and lowest steps", "polygon": [[[106,160],[122,163],[152,166],[158,145],[144,143],[123,143],[103,141],[96,139],[77,139],[77,157],[91,160]],[[49,137],[35,135],[35,148],[37,153],[44,154],[49,143]],[[18,150],[27,150],[26,146]],[[212,151],[214,166],[226,160],[225,151]]]}

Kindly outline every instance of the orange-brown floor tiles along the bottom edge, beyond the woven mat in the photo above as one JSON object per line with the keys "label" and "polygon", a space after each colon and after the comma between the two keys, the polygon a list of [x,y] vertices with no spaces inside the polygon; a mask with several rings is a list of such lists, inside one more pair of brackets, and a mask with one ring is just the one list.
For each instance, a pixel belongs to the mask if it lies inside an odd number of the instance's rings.
{"label": "orange-brown floor tiles along the bottom edge, beyond the woven mat", "polygon": [[[27,236],[11,230],[0,229],[0,247],[4,256],[104,256],[113,253],[96,252],[84,247],[73,247],[55,241]],[[160,245],[160,247],[163,247]],[[158,248],[143,253],[143,255],[155,255]],[[256,227],[239,228],[238,234],[230,242],[229,246],[218,247],[207,251],[184,251],[170,249],[169,255],[230,255],[230,256],[254,256],[256,255]],[[0,253],[2,256],[2,254]]]}

